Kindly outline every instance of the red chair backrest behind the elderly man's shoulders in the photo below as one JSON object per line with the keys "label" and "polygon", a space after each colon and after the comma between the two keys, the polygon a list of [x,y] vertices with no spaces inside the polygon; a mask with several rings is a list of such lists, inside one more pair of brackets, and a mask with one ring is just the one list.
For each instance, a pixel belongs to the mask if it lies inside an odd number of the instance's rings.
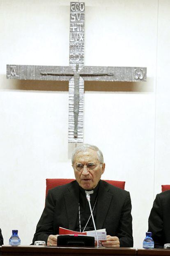
{"label": "red chair backrest behind the elderly man's shoulders", "polygon": [[[46,179],[46,196],[49,189],[53,189],[57,186],[67,184],[69,182],[72,182],[73,180],[75,179]],[[125,182],[119,182],[116,180],[108,180],[108,179],[104,181],[120,189],[124,189],[124,186],[125,186]]]}

